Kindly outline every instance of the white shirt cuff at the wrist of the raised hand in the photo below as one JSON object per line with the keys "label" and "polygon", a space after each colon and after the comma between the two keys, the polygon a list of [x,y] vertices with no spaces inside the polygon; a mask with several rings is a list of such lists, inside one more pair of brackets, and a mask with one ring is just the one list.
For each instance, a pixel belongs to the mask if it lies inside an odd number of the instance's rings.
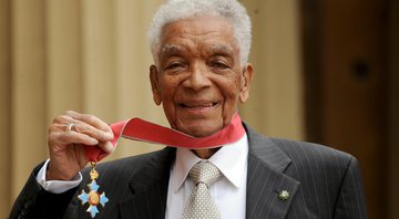
{"label": "white shirt cuff at the wrist of the raised hand", "polygon": [[49,165],[50,159],[48,159],[37,176],[38,184],[43,187],[44,190],[52,194],[62,194],[72,188],[75,188],[82,181],[82,174],[79,173],[72,178],[72,180],[45,180],[45,170]]}

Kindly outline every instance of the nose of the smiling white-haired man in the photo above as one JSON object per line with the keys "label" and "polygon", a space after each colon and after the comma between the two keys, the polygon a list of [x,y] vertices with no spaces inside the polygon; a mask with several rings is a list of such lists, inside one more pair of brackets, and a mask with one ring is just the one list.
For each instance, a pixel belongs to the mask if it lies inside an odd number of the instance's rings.
{"label": "nose of the smiling white-haired man", "polygon": [[211,86],[212,82],[207,77],[206,66],[196,64],[191,67],[188,77],[184,81],[184,85],[194,91],[200,91]]}

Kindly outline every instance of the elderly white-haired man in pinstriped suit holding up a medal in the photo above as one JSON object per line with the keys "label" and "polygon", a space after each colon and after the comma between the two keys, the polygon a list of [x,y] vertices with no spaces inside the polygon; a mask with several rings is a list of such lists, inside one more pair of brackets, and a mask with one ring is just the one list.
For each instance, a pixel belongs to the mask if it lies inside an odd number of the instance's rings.
{"label": "elderly white-haired man in pinstriped suit holding up a medal", "polygon": [[[112,153],[112,131],[95,116],[66,112],[50,126],[50,159],[33,170],[10,218],[367,218],[352,156],[267,138],[239,122],[253,66],[250,21],[237,1],[171,0],[149,38],[153,98],[171,127],[198,140],[241,127],[239,137],[99,164],[99,188],[84,169],[84,148]],[[106,194],[84,198],[88,184]]]}

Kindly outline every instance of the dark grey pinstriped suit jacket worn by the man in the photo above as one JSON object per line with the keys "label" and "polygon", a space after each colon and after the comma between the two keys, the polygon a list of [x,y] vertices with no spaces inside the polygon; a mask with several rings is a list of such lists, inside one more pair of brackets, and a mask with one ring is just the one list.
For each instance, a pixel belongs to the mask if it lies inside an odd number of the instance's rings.
{"label": "dark grey pinstriped suit jacket worn by the man", "polygon": [[[265,138],[245,126],[248,140],[246,218],[367,218],[355,157],[316,144]],[[165,217],[167,185],[175,149],[100,164],[98,184],[110,201],[96,218]],[[33,171],[10,218],[90,218],[76,199],[80,188],[61,195],[44,191]],[[88,169],[83,176],[86,177]],[[289,192],[280,200],[282,190]],[[72,198],[73,197],[73,198]],[[101,208],[101,207],[100,207]]]}

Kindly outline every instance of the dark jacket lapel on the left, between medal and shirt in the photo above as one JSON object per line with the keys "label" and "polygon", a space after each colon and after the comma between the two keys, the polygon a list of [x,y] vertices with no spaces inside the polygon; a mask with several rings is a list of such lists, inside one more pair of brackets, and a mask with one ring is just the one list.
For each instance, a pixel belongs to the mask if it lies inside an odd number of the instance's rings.
{"label": "dark jacket lapel on the left, between medal and shirt", "polygon": [[165,218],[167,186],[175,149],[166,148],[145,161],[130,182],[132,195],[120,205],[121,218]]}

